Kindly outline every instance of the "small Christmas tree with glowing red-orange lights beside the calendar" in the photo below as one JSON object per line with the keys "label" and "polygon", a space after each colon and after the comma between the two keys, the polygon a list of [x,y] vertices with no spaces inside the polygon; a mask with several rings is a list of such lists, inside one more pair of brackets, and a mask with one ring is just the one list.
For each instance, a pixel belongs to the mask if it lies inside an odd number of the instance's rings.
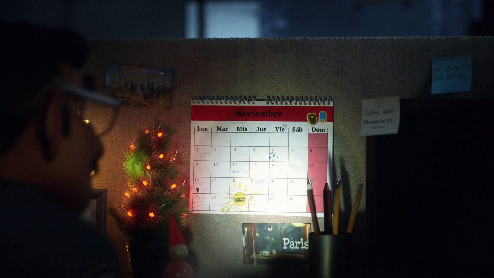
{"label": "small Christmas tree with glowing red-orange lights beside the calendar", "polygon": [[168,242],[170,214],[178,227],[187,224],[185,179],[178,180],[176,152],[169,150],[176,129],[155,113],[148,127],[137,131],[123,162],[128,177],[121,205],[109,204],[117,229],[131,241]]}

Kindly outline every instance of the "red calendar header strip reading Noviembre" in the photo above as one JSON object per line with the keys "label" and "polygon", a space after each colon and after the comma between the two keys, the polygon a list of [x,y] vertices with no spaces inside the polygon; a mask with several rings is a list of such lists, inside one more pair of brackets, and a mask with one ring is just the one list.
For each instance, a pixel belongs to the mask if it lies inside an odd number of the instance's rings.
{"label": "red calendar header strip reading Noviembre", "polygon": [[192,121],[307,122],[313,117],[332,122],[333,106],[192,105],[191,111]]}

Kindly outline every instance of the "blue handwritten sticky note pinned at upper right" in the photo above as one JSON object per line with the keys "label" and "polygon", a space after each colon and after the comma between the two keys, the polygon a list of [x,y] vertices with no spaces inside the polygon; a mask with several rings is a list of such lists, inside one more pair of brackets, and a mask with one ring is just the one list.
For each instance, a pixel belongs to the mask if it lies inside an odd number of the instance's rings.
{"label": "blue handwritten sticky note pinned at upper right", "polygon": [[469,92],[472,90],[470,55],[432,58],[431,93]]}

